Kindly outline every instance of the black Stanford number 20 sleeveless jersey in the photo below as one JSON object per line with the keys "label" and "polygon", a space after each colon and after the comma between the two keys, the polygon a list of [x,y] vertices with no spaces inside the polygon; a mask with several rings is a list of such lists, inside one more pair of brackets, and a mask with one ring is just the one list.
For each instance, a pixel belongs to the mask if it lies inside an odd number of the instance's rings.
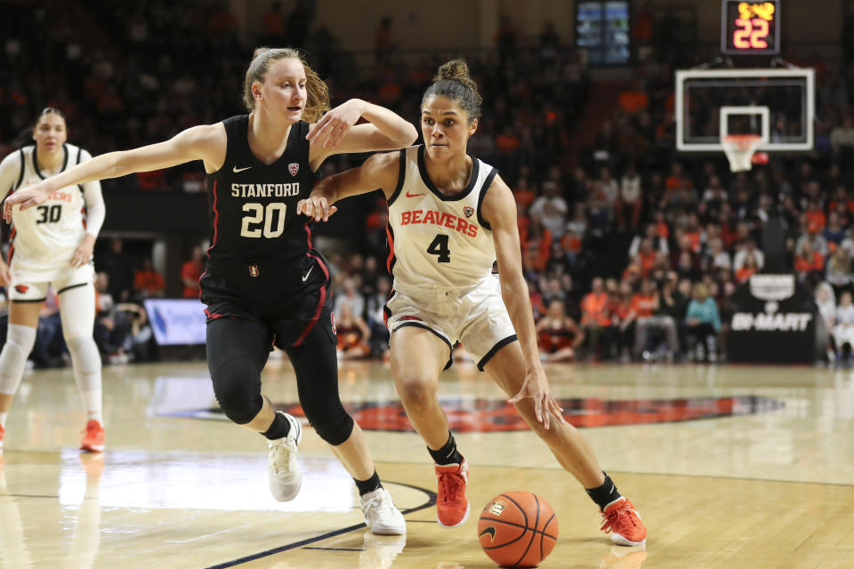
{"label": "black Stanford number 20 sleeveless jersey", "polygon": [[207,176],[211,246],[208,257],[250,263],[296,257],[310,249],[308,219],[296,204],[308,197],[315,175],[309,165],[309,124],[291,126],[282,156],[264,164],[249,148],[249,116],[222,121],[228,136],[225,163]]}

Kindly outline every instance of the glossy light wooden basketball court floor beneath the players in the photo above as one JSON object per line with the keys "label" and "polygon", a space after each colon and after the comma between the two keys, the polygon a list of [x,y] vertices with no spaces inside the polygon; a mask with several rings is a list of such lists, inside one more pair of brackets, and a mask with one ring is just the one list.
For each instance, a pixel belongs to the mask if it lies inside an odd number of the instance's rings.
{"label": "glossy light wooden basketball court floor beneath the players", "polygon": [[[441,398],[471,463],[472,514],[435,521],[435,478],[380,364],[345,363],[342,399],[366,429],[407,536],[367,533],[346,472],[313,430],[302,493],[267,489],[266,445],[217,413],[204,364],[104,370],[108,450],[77,451],[84,419],[70,370],[28,375],[0,466],[0,566],[241,569],[474,569],[479,510],[528,490],[555,510],[540,566],[854,567],[854,373],[810,367],[553,365],[552,386],[649,528],[619,548],[545,445],[473,365]],[[265,390],[292,409],[289,365]]]}

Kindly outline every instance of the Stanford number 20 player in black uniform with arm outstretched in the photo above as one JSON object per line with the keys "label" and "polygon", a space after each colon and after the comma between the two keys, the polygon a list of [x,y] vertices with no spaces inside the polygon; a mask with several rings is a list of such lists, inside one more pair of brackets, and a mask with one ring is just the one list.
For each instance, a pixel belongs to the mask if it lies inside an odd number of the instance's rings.
{"label": "Stanford number 20 player in black uniform with arm outstretched", "polygon": [[[312,248],[310,223],[297,217],[296,205],[309,196],[314,172],[327,156],[403,148],[417,132],[363,100],[323,114],[329,108],[326,84],[291,49],[256,50],[244,101],[249,115],[110,152],[21,189],[6,200],[4,217],[14,205],[44,202],[56,188],[202,160],[211,246],[200,284],[217,400],[231,421],[267,437],[270,491],[277,500],[293,499],[302,484],[296,462],[302,427],[261,395],[261,371],[275,342],[294,365],[311,425],[356,481],[367,525],[375,533],[405,533],[365,437],[338,397],[329,269]],[[356,125],[359,118],[367,124]]]}

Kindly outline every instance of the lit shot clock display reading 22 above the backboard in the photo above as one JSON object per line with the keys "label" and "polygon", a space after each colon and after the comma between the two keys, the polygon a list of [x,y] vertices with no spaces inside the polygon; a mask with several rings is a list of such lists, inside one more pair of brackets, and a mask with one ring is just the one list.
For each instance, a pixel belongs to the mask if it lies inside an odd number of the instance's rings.
{"label": "lit shot clock display reading 22 above the backboard", "polygon": [[780,52],[780,0],[721,0],[721,52],[772,55]]}

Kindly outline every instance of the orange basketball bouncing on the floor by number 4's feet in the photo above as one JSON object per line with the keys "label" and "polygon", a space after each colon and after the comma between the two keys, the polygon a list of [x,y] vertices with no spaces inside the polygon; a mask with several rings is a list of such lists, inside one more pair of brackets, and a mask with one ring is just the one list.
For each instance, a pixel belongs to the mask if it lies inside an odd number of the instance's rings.
{"label": "orange basketball bouncing on the floor by number 4's feet", "polygon": [[554,549],[558,518],[534,493],[500,493],[480,512],[480,547],[503,567],[536,567]]}

